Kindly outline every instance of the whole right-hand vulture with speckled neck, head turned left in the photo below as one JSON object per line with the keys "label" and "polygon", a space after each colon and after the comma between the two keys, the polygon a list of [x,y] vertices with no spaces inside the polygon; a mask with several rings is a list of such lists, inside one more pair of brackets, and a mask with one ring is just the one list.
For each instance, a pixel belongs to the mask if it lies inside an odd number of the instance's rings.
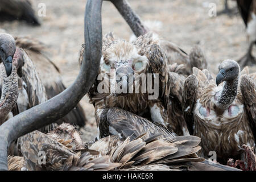
{"label": "whole right-hand vulture with speckled neck, head turned left", "polygon": [[255,146],[256,73],[240,71],[236,61],[225,60],[216,82],[207,69],[193,68],[183,90],[183,113],[189,133],[200,137],[202,154],[215,151],[217,161],[243,159],[242,145]]}

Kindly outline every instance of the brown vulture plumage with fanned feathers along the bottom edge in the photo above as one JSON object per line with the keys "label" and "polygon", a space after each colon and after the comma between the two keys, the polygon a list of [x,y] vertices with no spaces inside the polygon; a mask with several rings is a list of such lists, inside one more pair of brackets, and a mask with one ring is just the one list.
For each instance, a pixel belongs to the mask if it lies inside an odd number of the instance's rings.
{"label": "brown vulture plumage with fanned feathers along the bottom edge", "polygon": [[[196,155],[201,147],[194,136],[112,135],[84,143],[75,127],[63,123],[48,134],[33,131],[19,140],[23,157],[9,156],[10,170],[178,170],[204,160]],[[39,163],[39,151],[45,163]]]}

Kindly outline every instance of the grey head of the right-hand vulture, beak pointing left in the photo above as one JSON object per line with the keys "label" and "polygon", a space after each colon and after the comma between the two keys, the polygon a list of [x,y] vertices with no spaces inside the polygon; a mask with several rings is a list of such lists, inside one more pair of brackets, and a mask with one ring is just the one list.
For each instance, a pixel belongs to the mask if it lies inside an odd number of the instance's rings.
{"label": "grey head of the right-hand vulture, beak pointing left", "polygon": [[225,60],[218,67],[218,75],[216,77],[217,86],[223,81],[233,81],[238,78],[240,66],[234,60]]}

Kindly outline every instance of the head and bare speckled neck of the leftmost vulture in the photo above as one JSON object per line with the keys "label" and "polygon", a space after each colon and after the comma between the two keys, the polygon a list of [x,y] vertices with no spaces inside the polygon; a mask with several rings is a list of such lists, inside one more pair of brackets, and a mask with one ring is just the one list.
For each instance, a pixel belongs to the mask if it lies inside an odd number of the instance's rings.
{"label": "head and bare speckled neck of the leftmost vulture", "polygon": [[0,125],[13,115],[11,111],[18,100],[18,74],[22,76],[22,60],[18,59],[12,40],[10,35],[0,34]]}

